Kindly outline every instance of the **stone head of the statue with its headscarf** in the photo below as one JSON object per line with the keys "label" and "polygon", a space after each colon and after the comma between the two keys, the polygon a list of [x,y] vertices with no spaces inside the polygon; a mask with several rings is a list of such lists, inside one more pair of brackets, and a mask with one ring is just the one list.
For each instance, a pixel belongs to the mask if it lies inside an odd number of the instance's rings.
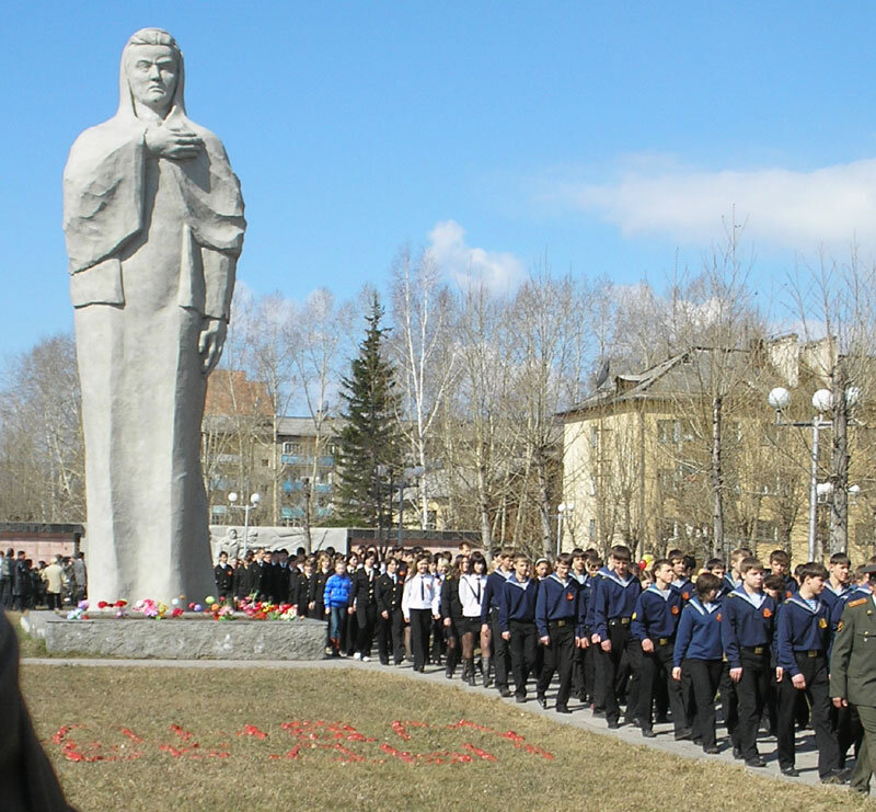
{"label": "stone head of the statue with its headscarf", "polygon": [[161,28],[140,28],[122,53],[122,104],[148,107],[164,117],[183,105],[183,54]]}

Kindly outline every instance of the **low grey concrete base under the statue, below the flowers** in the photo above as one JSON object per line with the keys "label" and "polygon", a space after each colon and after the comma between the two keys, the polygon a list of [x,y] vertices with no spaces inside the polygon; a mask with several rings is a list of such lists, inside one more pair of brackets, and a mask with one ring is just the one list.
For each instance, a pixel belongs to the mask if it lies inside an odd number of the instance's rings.
{"label": "low grey concrete base under the statue, below the flowers", "polygon": [[319,620],[152,620],[95,617],[67,620],[31,611],[22,627],[46,641],[49,654],[130,660],[321,660],[325,624]]}

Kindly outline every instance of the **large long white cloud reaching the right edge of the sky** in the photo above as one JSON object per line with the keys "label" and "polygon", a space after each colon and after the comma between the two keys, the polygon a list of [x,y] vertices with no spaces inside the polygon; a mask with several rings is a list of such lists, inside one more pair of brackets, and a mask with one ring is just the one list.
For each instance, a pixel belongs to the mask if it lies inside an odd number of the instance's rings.
{"label": "large long white cloud reaching the right edge of the sky", "polygon": [[756,242],[808,252],[848,251],[876,229],[876,160],[825,167],[695,171],[649,157],[615,182],[566,184],[561,197],[599,213],[624,235],[660,233],[685,242],[724,235],[724,220],[745,224]]}

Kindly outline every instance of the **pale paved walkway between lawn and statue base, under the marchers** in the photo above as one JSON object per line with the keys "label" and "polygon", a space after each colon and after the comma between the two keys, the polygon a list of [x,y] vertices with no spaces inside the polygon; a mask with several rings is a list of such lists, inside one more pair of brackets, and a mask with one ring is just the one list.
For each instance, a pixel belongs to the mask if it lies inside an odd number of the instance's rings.
{"label": "pale paved walkway between lawn and statue base, under the marchers", "polygon": [[[410,664],[405,663],[399,667],[390,667],[380,665],[377,661],[368,663],[357,662],[351,659],[339,660],[321,660],[321,661],[278,661],[278,660],[261,660],[261,661],[240,661],[240,660],[87,660],[87,659],[59,659],[59,657],[25,657],[22,664],[27,665],[50,665],[57,667],[69,666],[87,666],[97,668],[277,668],[277,670],[300,670],[300,668],[348,668],[348,670],[366,670],[374,672],[385,672],[405,676],[410,679],[426,681],[436,685],[445,687],[454,687],[457,690],[475,691],[482,696],[498,699],[498,694],[494,688],[483,688],[477,686],[475,688],[463,685],[459,679],[460,670],[457,668],[457,677],[447,679],[442,667],[426,666],[424,674],[416,673]],[[800,771],[799,778],[786,778],[779,771],[779,763],[775,755],[775,739],[761,734],[759,739],[759,750],[761,756],[766,760],[766,767],[762,769],[753,769],[742,767],[741,763],[734,759],[731,748],[726,745],[721,745],[722,752],[717,755],[706,755],[703,753],[700,745],[692,742],[677,742],[672,734],[671,724],[655,724],[654,730],[657,733],[655,739],[644,739],[637,728],[631,725],[622,725],[619,730],[609,730],[606,727],[604,719],[595,719],[589,708],[569,702],[569,709],[573,711],[570,714],[556,713],[553,710],[553,694],[555,685],[551,688],[548,695],[549,710],[542,710],[535,702],[534,689],[530,691],[529,699],[526,704],[518,705],[514,698],[505,699],[503,701],[512,704],[518,710],[529,711],[537,713],[543,718],[551,719],[560,724],[570,724],[574,728],[586,730],[590,733],[598,733],[600,735],[610,735],[619,739],[629,744],[638,744],[645,747],[653,747],[655,750],[671,753],[672,755],[681,756],[682,758],[690,758],[695,760],[708,759],[724,762],[728,765],[739,767],[740,770],[752,775],[762,775],[779,780],[788,781],[792,784],[818,784],[817,757],[818,753],[815,747],[815,737],[811,730],[807,730],[804,734],[797,734],[797,769]],[[726,739],[725,731],[718,727],[718,741],[722,737]],[[851,754],[850,754],[851,755]],[[852,759],[848,762],[848,766],[852,765]],[[844,791],[838,788],[838,791]]]}

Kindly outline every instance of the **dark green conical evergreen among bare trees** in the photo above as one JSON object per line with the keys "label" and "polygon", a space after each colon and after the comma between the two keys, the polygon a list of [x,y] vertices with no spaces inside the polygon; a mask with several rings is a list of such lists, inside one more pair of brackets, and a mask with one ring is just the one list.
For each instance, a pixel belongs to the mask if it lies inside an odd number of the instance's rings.
{"label": "dark green conical evergreen among bare trees", "polygon": [[368,328],[350,375],[342,380],[344,428],[338,436],[341,482],[336,505],[343,521],[365,527],[389,527],[392,494],[389,482],[401,469],[396,422],[395,370],[385,359],[388,330],[380,324],[383,308],[377,294],[366,316]]}

